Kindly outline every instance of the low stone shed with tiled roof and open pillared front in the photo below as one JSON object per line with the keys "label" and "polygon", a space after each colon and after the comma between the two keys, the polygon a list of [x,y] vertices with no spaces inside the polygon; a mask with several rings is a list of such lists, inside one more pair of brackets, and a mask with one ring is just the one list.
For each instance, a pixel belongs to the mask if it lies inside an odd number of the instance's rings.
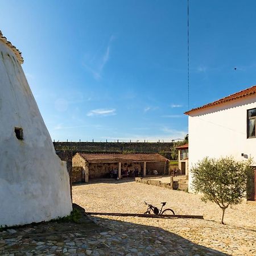
{"label": "low stone shed with tiled roof and open pillared front", "polygon": [[127,176],[126,171],[138,169],[138,175],[146,176],[158,171],[168,174],[168,159],[160,154],[89,154],[77,153],[73,156],[73,183],[85,182],[99,177],[110,177],[110,171],[117,169],[118,177]]}

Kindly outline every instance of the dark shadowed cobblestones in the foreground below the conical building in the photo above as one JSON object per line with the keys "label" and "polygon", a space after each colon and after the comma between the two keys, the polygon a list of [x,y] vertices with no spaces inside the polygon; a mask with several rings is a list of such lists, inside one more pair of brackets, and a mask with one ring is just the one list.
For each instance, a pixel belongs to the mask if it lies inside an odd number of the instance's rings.
{"label": "dark shadowed cobblestones in the foreground below the conical building", "polygon": [[1,255],[228,255],[161,228],[95,218],[98,225],[44,222],[0,232]]}

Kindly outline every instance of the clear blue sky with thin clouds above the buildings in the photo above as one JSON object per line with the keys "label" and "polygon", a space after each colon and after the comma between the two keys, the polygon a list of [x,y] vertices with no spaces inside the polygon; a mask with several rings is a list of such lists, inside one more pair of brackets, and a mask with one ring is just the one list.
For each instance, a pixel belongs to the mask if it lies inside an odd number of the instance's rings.
{"label": "clear blue sky with thin clouds above the buildings", "polygon": [[[55,141],[171,141],[188,109],[256,84],[256,1],[0,1]],[[237,68],[234,70],[234,68]]]}

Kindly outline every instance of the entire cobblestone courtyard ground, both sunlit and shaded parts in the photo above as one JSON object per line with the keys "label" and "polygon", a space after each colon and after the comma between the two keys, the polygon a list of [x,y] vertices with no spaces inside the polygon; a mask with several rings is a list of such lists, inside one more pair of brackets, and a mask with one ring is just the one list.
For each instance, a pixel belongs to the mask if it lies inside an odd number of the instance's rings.
{"label": "entire cobblestone courtyard ground, both sunlit and shaded parts", "polygon": [[[126,180],[129,181],[129,180]],[[256,255],[255,205],[221,211],[198,195],[122,181],[73,187],[73,202],[88,212],[143,213],[143,201],[176,214],[203,214],[204,220],[95,216],[92,222],[48,222],[0,232],[0,255]]]}

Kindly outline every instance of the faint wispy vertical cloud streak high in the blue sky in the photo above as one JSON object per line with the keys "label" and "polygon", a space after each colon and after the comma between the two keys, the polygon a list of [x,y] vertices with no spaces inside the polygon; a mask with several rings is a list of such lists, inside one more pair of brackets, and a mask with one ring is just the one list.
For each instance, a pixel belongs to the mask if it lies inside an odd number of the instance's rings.
{"label": "faint wispy vertical cloud streak high in the blue sky", "polygon": [[115,37],[113,35],[110,36],[108,45],[106,46],[105,51],[101,53],[101,56],[98,56],[97,53],[97,55],[94,55],[91,60],[85,61],[85,63],[83,63],[84,67],[90,73],[92,73],[95,80],[101,79],[101,73],[110,59],[110,47],[114,39]]}

